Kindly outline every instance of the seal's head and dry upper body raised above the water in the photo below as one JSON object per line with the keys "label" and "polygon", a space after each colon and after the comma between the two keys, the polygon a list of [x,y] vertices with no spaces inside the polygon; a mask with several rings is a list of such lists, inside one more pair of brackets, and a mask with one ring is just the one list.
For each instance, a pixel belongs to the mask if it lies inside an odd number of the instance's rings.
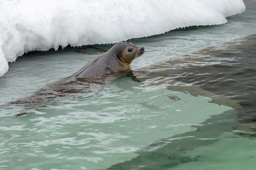
{"label": "seal's head and dry upper body raised above the water", "polygon": [[143,47],[128,42],[119,42],[109,51],[86,64],[72,77],[104,78],[113,73],[127,71],[130,64],[144,53]]}

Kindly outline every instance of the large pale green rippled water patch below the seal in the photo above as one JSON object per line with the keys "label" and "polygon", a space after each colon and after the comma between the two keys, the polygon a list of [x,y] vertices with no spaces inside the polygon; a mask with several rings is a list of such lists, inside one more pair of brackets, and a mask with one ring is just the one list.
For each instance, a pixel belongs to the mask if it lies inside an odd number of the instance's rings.
{"label": "large pale green rippled water patch below the seal", "polygon": [[[32,109],[34,114],[2,117],[1,166],[108,168],[136,157],[133,152],[154,141],[196,130],[191,126],[232,109],[209,100],[123,77],[74,103],[67,97],[62,105]],[[204,107],[195,108],[198,103]]]}

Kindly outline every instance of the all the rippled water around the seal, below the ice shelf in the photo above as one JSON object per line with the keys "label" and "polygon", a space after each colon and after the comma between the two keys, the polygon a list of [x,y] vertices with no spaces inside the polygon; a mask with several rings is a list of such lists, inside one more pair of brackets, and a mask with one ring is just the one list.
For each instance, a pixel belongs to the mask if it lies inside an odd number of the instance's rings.
{"label": "all the rippled water around the seal, below the ice shelf", "polygon": [[[252,4],[224,25],[131,40],[145,48],[132,63],[134,77],[58,97],[18,117],[25,105],[0,109],[1,170],[253,170],[255,9]],[[19,58],[0,79],[0,104],[72,75],[109,48]]]}

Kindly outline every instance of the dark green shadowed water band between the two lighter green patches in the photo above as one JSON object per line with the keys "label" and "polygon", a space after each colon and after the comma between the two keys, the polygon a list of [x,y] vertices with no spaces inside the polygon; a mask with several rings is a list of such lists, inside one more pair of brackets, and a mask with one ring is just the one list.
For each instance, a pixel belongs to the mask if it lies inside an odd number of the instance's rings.
{"label": "dark green shadowed water band between the two lighter green patches", "polygon": [[[184,154],[197,147],[209,146],[219,141],[219,136],[223,132],[231,130],[232,126],[236,126],[234,121],[230,121],[230,119],[235,119],[235,115],[232,113],[234,112],[227,111],[221,115],[212,116],[207,121],[202,122],[200,124],[202,126],[195,126],[196,131],[156,141],[150,146],[137,151],[138,157],[111,166],[108,170],[165,170],[181,163],[198,161],[200,155],[189,157],[184,156]],[[209,148],[209,150],[211,149]]]}

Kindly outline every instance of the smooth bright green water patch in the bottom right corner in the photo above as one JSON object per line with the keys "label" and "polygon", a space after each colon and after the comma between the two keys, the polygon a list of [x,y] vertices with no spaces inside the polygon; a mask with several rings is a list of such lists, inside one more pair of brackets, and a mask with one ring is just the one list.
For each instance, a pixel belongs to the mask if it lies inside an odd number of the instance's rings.
{"label": "smooth bright green water patch in the bottom right corner", "polygon": [[191,158],[198,157],[197,161],[183,163],[170,169],[192,170],[193,167],[197,167],[198,170],[255,169],[256,144],[253,139],[235,137],[232,132],[225,132],[218,139],[220,140],[215,144],[195,148],[183,155]]}

